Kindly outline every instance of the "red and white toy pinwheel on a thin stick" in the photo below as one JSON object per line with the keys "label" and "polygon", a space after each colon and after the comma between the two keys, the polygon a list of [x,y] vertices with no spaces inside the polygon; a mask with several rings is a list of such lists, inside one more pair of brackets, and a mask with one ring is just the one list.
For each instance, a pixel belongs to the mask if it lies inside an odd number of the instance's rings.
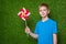
{"label": "red and white toy pinwheel on a thin stick", "polygon": [[29,19],[30,15],[30,11],[26,9],[20,9],[20,12],[18,13],[18,15],[20,16],[20,19],[25,21],[25,25],[26,25],[26,20]]}

